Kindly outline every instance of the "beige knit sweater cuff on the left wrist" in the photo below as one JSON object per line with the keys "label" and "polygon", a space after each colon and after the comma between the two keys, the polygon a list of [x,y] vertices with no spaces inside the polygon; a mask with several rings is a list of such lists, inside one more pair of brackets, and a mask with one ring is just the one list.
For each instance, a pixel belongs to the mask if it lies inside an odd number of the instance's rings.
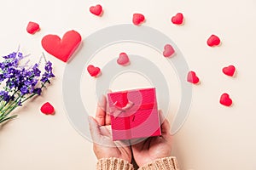
{"label": "beige knit sweater cuff on the left wrist", "polygon": [[134,170],[131,163],[115,157],[99,159],[96,164],[96,169],[97,170]]}

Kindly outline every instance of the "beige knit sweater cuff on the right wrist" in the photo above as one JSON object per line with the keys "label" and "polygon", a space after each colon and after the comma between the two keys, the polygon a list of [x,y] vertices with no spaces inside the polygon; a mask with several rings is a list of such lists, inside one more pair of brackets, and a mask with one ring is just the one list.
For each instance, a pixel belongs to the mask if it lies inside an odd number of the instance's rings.
{"label": "beige knit sweater cuff on the right wrist", "polygon": [[178,170],[176,157],[170,156],[161,159],[154,160],[139,170]]}

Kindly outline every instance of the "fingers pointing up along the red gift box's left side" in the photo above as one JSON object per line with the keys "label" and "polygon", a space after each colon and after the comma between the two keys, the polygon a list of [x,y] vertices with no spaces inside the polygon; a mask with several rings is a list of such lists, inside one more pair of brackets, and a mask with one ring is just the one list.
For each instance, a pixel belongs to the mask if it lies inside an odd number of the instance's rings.
{"label": "fingers pointing up along the red gift box's left side", "polygon": [[97,109],[96,109],[96,122],[100,126],[105,125],[106,121],[106,104],[107,104],[107,99],[105,95],[102,95],[101,99],[99,99]]}

